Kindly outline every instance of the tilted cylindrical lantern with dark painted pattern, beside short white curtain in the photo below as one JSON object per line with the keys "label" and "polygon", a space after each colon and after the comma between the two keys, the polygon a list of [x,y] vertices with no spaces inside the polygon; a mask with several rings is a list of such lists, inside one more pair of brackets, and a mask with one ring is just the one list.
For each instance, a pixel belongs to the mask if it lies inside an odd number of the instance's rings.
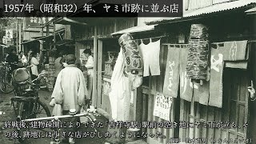
{"label": "tilted cylindrical lantern with dark painted pattern, beside short white curtain", "polygon": [[138,45],[131,34],[122,34],[118,39],[119,45],[126,58],[126,69],[131,74],[142,75],[142,57]]}

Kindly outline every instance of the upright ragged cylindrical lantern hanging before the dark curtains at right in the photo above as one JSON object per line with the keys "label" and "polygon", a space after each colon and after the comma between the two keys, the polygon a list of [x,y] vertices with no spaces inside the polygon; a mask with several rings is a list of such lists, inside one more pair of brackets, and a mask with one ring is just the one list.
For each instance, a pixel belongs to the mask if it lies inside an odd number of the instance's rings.
{"label": "upright ragged cylindrical lantern hanging before the dark curtains at right", "polygon": [[206,80],[208,68],[208,29],[202,24],[193,24],[190,29],[187,78]]}

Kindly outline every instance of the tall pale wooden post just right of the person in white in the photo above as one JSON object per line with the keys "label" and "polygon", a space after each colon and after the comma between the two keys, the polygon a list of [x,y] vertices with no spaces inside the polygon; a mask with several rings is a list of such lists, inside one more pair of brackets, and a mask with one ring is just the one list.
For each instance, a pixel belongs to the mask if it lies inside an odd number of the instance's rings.
{"label": "tall pale wooden post just right of the person in white", "polygon": [[92,95],[92,105],[97,106],[97,81],[98,81],[98,54],[97,54],[97,44],[98,44],[98,38],[97,38],[97,26],[94,26],[94,78],[93,78],[93,95]]}

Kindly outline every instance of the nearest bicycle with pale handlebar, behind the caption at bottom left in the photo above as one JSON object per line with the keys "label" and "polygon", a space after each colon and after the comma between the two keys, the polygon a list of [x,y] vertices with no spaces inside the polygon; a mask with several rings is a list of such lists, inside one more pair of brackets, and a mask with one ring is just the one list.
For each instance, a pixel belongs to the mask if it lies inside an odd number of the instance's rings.
{"label": "nearest bicycle with pale handlebar, behind the caption at bottom left", "polygon": [[[94,117],[93,114],[90,114],[88,112],[84,114],[76,114],[76,110],[71,109],[70,110],[70,115],[62,115],[62,116],[54,116],[54,117],[48,117],[48,118],[30,118],[30,119],[24,119],[21,122],[35,122],[35,121],[52,121],[52,122],[62,122],[62,118],[74,118],[74,117],[87,117],[90,119],[90,122],[95,122],[96,118]],[[52,141],[50,144],[59,144],[61,142],[62,136],[60,134],[61,127],[57,127],[53,129],[54,131],[58,132],[58,137],[52,138]],[[97,130],[94,128],[95,132]]]}

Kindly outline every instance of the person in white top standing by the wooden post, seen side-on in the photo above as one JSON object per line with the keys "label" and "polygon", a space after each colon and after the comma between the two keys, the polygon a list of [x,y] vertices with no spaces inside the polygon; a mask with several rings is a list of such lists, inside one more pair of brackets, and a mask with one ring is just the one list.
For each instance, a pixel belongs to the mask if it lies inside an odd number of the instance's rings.
{"label": "person in white top standing by the wooden post, seen side-on", "polygon": [[91,50],[86,49],[83,51],[87,58],[86,62],[86,70],[87,70],[87,89],[88,94],[90,95],[90,100],[92,100],[92,94],[93,94],[93,78],[94,78],[94,58],[91,55]]}

